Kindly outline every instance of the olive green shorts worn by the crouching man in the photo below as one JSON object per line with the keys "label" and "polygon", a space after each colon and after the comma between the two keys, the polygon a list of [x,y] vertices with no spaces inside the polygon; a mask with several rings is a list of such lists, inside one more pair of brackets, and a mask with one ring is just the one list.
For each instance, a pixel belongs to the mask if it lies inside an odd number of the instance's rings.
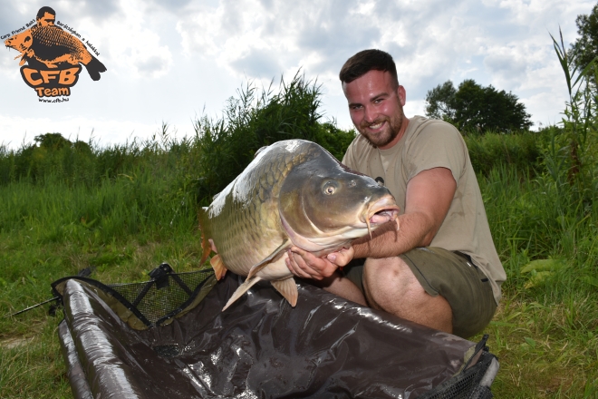
{"label": "olive green shorts worn by the crouching man", "polygon": [[[453,334],[467,338],[475,336],[490,323],[497,302],[487,276],[471,259],[444,248],[414,248],[399,256],[432,297],[447,299],[453,312]],[[353,259],[343,268],[362,292],[365,259]]]}

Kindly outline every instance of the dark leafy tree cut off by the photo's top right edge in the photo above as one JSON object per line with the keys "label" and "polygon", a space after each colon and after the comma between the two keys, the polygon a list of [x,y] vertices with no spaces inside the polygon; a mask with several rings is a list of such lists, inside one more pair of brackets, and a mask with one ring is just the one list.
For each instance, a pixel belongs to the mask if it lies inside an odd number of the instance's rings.
{"label": "dark leafy tree cut off by the photo's top right edge", "polygon": [[569,56],[580,71],[598,55],[598,4],[590,15],[577,15],[575,19],[578,37],[571,45]]}

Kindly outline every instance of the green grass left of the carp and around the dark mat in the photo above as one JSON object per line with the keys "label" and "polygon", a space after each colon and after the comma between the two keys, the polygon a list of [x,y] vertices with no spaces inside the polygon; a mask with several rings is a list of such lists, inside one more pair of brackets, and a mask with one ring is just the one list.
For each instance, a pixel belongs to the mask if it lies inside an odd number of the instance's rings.
{"label": "green grass left of the carp and around the dark mat", "polygon": [[45,306],[5,317],[51,297],[53,280],[90,267],[105,283],[145,281],[163,261],[198,268],[196,208],[170,192],[169,178],[165,170],[91,187],[51,177],[0,186],[0,397],[72,397],[56,330],[62,316],[47,316]]}

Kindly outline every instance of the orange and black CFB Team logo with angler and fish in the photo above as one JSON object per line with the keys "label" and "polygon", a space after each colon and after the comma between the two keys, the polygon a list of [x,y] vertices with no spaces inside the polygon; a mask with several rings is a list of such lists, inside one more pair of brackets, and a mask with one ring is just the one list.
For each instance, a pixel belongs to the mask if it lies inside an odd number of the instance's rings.
{"label": "orange and black CFB Team logo with angler and fish", "polygon": [[[58,98],[71,95],[72,86],[79,80],[82,66],[94,81],[100,80],[100,73],[106,72],[106,67],[93,54],[85,44],[85,39],[80,40],[81,34],[72,30],[66,24],[57,24],[68,30],[56,26],[56,13],[50,7],[42,7],[37,12],[34,21],[26,24],[21,29],[12,32],[12,36],[5,40],[6,47],[12,48],[20,55],[21,76],[24,83],[32,87],[43,101],[43,98],[54,98],[48,102],[62,101]],[[31,27],[29,27],[31,26]],[[8,36],[3,36],[3,39]],[[99,56],[97,50],[87,42],[92,52]]]}

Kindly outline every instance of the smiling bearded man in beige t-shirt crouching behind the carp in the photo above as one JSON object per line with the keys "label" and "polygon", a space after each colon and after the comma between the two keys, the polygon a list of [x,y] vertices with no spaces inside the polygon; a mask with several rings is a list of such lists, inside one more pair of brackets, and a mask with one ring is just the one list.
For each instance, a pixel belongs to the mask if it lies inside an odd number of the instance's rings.
{"label": "smiling bearded man in beige t-shirt crouching behind the carp", "polygon": [[287,267],[362,305],[458,336],[477,334],[496,311],[506,274],[463,138],[449,123],[405,116],[390,54],[355,54],[340,78],[361,133],[342,162],[389,188],[403,213],[327,257],[291,248]]}

